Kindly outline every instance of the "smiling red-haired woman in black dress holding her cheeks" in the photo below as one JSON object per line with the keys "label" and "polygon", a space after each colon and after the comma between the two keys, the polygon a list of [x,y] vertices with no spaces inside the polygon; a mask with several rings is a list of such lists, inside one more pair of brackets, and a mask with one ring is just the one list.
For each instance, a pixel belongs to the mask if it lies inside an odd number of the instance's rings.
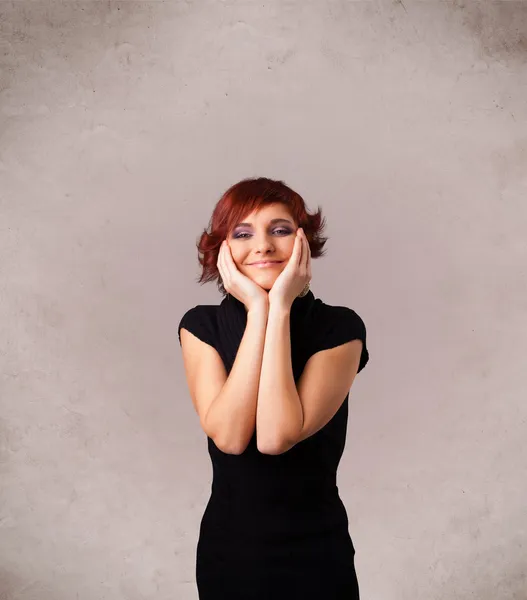
{"label": "smiling red-haired woman in black dress holding her cheeks", "polygon": [[225,192],[198,244],[199,281],[225,295],[178,328],[213,467],[201,600],[359,598],[336,474],[369,356],[359,315],[309,290],[322,229],[284,183],[249,179]]}

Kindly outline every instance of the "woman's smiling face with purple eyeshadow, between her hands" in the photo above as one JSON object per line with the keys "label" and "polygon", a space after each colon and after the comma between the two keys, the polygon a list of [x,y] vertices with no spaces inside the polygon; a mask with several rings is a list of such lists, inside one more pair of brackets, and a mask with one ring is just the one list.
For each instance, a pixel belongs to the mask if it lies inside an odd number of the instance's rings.
{"label": "woman's smiling face with purple eyeshadow, between her hands", "polygon": [[[270,204],[247,215],[228,236],[238,270],[270,290],[293,252],[297,224],[283,204]],[[260,265],[257,262],[276,261]]]}

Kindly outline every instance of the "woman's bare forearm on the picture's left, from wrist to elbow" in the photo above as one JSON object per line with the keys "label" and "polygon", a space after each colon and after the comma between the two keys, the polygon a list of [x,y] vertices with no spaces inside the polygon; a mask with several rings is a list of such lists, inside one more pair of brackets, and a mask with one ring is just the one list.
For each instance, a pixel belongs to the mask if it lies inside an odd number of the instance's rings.
{"label": "woman's bare forearm on the picture's left, from wrist to elbow", "polygon": [[247,326],[221,392],[205,417],[206,428],[224,452],[243,452],[256,427],[256,404],[268,309],[247,313]]}

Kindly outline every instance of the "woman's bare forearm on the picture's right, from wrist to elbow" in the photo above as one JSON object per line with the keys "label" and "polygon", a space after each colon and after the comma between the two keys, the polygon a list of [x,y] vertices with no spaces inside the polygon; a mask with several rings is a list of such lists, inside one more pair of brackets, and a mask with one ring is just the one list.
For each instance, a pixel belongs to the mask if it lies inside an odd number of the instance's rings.
{"label": "woman's bare forearm on the picture's right, from wrist to elbow", "polygon": [[280,452],[302,429],[303,412],[291,361],[290,309],[270,306],[263,351],[256,436],[260,451]]}

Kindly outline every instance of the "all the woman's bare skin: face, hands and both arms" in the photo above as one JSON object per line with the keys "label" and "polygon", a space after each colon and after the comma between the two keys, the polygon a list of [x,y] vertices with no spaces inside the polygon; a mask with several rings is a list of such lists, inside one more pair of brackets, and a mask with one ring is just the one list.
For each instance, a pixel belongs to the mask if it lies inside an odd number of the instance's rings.
{"label": "all the woman's bare skin: face, hands and both arms", "polygon": [[[285,218],[289,223],[271,223]],[[224,241],[218,269],[225,289],[244,303],[247,326],[229,374],[218,352],[181,330],[185,369],[203,430],[228,454],[241,454],[256,430],[258,450],[282,454],[319,431],[349,392],[362,342],[316,352],[298,382],[292,367],[290,309],[311,278],[309,244],[287,208],[247,215]],[[258,269],[250,263],[276,258]]]}

